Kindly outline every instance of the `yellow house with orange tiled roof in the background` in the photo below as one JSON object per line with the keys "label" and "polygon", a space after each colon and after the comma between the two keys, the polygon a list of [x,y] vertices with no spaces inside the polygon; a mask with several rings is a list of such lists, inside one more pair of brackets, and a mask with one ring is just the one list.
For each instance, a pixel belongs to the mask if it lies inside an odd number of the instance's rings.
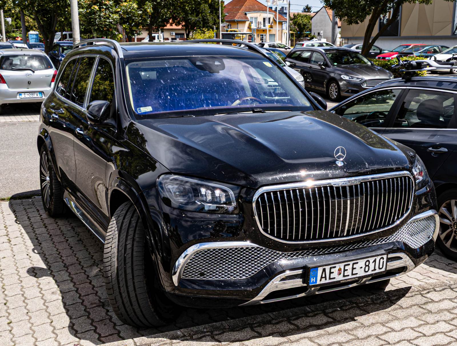
{"label": "yellow house with orange tiled roof in the background", "polygon": [[[282,42],[286,44],[287,19],[268,9],[257,0],[232,0],[224,7],[227,29],[249,32],[246,35],[250,42]],[[277,29],[277,30],[276,30]],[[277,32],[277,35],[276,35]]]}

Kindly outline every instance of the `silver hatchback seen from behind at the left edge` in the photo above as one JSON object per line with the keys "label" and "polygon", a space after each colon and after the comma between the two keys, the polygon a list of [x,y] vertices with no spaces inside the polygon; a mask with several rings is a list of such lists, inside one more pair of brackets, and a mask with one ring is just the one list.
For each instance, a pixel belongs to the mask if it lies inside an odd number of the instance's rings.
{"label": "silver hatchback seen from behind at the left edge", "polygon": [[0,50],[0,112],[8,103],[43,102],[53,90],[56,75],[42,51]]}

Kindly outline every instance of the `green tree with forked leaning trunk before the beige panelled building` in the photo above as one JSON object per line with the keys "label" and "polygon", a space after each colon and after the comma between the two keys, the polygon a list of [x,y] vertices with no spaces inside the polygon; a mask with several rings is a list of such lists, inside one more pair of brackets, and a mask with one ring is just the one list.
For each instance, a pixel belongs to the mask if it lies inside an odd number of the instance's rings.
{"label": "green tree with forked leaning trunk before the beige panelled building", "polygon": [[[401,5],[406,3],[430,5],[433,0],[322,0],[322,2],[335,11],[335,16],[349,25],[360,24],[368,17],[362,47],[362,54],[367,54],[376,40],[399,16]],[[371,38],[374,28],[378,25],[379,17],[386,16],[389,12],[390,19],[385,21],[378,33]]]}

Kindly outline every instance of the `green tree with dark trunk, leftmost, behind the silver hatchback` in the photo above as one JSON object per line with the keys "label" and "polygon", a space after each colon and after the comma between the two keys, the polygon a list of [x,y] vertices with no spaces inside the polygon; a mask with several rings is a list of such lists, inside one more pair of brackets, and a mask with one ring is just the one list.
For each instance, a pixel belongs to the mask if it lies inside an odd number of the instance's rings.
{"label": "green tree with dark trunk, leftmost, behind the silver hatchback", "polygon": [[46,53],[53,47],[58,18],[70,8],[69,0],[17,0],[17,8],[37,23]]}

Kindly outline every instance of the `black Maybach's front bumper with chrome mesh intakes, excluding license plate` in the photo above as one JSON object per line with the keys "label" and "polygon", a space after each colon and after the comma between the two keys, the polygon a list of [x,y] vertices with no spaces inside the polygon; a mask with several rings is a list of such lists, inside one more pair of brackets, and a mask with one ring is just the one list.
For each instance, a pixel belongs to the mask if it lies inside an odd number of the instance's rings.
{"label": "black Maybach's front bumper with chrome mesh intakes, excluding license plate", "polygon": [[[280,252],[250,242],[199,243],[175,262],[178,290],[170,299],[187,305],[230,306],[269,303],[353,287],[408,273],[434,250],[439,218],[428,210],[410,219],[391,236],[338,247]],[[336,263],[349,257],[388,255],[387,272],[331,286],[309,287],[306,266]],[[189,300],[190,299],[190,300]],[[217,301],[216,301],[217,300]]]}

